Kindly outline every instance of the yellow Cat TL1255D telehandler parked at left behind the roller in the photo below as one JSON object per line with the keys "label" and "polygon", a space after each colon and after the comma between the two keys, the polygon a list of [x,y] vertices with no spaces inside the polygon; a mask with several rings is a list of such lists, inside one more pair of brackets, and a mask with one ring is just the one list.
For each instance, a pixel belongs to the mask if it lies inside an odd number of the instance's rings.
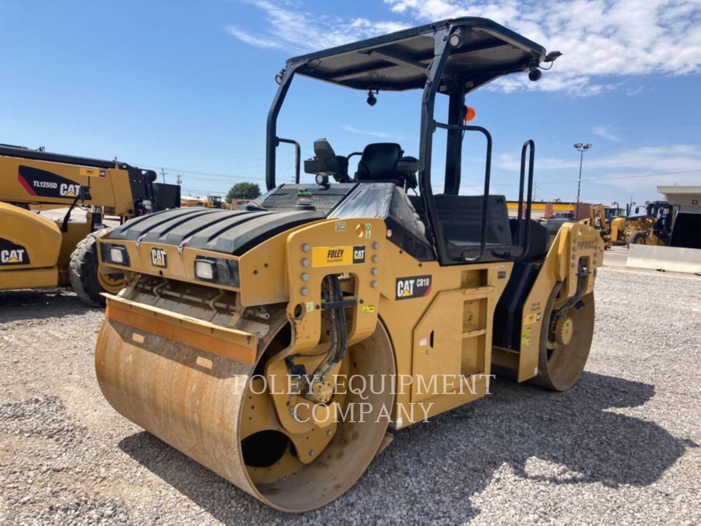
{"label": "yellow Cat TL1255D telehandler parked at left behind the roller", "polygon": [[[119,161],[0,144],[0,290],[71,286],[88,305],[123,288],[121,271],[98,272],[104,216],[131,217],[179,205],[180,190]],[[41,215],[67,208],[59,220]],[[71,219],[76,208],[86,220]]]}

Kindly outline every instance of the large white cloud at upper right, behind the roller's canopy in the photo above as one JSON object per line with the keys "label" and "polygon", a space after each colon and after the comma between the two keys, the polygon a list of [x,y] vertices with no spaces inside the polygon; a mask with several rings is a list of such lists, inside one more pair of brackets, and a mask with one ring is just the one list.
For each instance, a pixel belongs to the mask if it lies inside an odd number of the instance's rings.
{"label": "large white cloud at upper right, behind the roller's canopy", "polygon": [[[564,53],[552,72],[531,83],[510,76],[491,89],[564,90],[597,95],[625,76],[701,71],[698,0],[385,0],[392,11],[428,22],[456,16],[491,18]],[[629,89],[637,95],[640,88]]]}

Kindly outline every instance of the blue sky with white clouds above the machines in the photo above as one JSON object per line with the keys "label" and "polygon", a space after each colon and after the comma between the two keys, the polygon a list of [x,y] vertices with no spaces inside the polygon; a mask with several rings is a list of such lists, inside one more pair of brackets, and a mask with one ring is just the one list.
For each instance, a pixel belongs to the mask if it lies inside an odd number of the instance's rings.
{"label": "blue sky with white clouds above the machines", "polygon": [[[575,198],[574,142],[594,144],[583,201],[640,203],[660,197],[657,184],[701,184],[693,1],[4,0],[0,142],[163,166],[168,182],[182,175],[184,194],[263,187],[265,119],[285,59],[454,15],[492,18],[564,53],[538,83],[511,76],[468,97],[494,137],[494,192],[515,195],[528,138],[538,198]],[[295,79],[278,132],[303,157],[318,137],[337,153],[392,141],[416,155],[420,93],[378,99],[371,108],[364,93]],[[465,142],[465,193],[478,193],[468,185],[482,178],[483,147]],[[279,159],[278,180],[290,181],[291,147]]]}

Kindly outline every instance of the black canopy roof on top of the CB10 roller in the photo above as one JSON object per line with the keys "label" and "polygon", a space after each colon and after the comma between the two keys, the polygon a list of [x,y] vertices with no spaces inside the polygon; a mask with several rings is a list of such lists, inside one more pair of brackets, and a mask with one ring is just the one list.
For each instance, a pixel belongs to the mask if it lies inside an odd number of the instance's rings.
{"label": "black canopy roof on top of the CB10 roller", "polygon": [[[436,29],[460,27],[462,46],[451,51],[443,81],[461,79],[470,91],[503,74],[537,66],[545,48],[486,18],[443,20],[287,60],[297,74],[362,90],[423,89],[434,57]],[[439,91],[445,91],[440,86]]]}

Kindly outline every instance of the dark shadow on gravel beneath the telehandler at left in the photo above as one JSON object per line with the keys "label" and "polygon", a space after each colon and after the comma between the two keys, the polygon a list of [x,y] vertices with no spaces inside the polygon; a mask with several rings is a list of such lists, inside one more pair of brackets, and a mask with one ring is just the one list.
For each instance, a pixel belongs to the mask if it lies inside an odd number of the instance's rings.
{"label": "dark shadow on gravel beneath the telehandler at left", "polygon": [[[83,314],[98,310],[83,302],[67,289],[22,289],[0,291],[0,323],[34,320],[46,317],[46,309],[55,315]],[[103,310],[104,309],[99,309]]]}

